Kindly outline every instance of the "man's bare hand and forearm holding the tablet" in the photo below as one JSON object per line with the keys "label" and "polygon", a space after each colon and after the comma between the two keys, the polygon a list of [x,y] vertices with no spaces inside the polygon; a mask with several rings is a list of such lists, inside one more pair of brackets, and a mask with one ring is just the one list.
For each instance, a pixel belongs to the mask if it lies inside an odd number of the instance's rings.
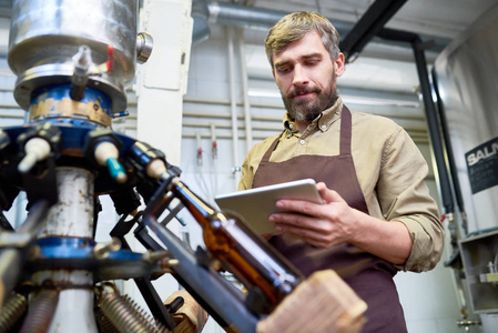
{"label": "man's bare hand and forearm holding the tablet", "polygon": [[316,184],[323,204],[299,200],[278,200],[285,213],[270,221],[281,234],[289,234],[317,248],[350,243],[395,264],[403,264],[411,251],[411,238],[400,222],[383,221],[350,208],[325,183]]}

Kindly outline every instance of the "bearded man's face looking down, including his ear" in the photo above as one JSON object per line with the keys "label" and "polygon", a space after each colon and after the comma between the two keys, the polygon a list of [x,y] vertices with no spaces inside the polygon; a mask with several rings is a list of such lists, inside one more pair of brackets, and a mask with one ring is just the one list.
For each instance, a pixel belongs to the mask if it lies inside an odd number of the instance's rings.
{"label": "bearded man's face looking down, including his ear", "polygon": [[273,57],[275,82],[291,118],[311,121],[337,98],[335,78],[344,72],[344,56],[335,61],[316,31]]}

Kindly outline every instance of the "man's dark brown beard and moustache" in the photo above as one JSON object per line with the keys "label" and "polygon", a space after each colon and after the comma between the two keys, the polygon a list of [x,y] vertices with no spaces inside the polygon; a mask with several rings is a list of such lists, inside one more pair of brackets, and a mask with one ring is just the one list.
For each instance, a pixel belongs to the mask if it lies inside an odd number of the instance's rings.
{"label": "man's dark brown beard and moustache", "polygon": [[[333,82],[331,82],[331,88],[328,91],[324,92],[319,88],[305,88],[296,89],[286,97],[282,94],[282,100],[284,101],[285,109],[292,120],[297,121],[313,121],[317,118],[324,110],[334,105],[337,100],[337,90],[335,84],[335,73]],[[317,99],[314,101],[308,101],[306,99],[299,101],[293,101],[293,98],[299,93],[315,92]]]}

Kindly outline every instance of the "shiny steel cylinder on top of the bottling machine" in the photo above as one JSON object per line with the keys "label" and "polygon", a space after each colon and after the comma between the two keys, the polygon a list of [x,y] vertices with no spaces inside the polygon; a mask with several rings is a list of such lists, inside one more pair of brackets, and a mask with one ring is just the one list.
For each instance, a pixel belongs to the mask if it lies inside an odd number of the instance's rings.
{"label": "shiny steel cylinder on top of the bottling machine", "polygon": [[73,57],[87,46],[95,65],[112,61],[110,71],[90,75],[88,87],[105,92],[114,112],[124,110],[123,87],[135,74],[136,12],[136,0],[14,1],[8,61],[18,75],[18,103],[28,110],[38,88],[69,82]]}

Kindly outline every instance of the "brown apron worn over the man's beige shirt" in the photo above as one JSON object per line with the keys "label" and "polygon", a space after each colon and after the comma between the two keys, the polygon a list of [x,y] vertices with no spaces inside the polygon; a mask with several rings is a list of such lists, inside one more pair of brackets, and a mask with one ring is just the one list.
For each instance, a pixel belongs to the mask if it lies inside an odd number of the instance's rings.
{"label": "brown apron worn over the man's beige shirt", "polygon": [[[254,174],[253,188],[311,178],[316,182],[325,182],[349,206],[368,214],[350,154],[350,139],[352,115],[344,105],[338,155],[298,155],[284,162],[270,162],[280,141],[277,138],[263,155]],[[365,314],[368,322],[362,332],[407,332],[393,281],[397,271],[387,261],[348,243],[319,249],[289,235],[273,236],[270,243],[306,276],[319,270],[335,270],[368,304]]]}

